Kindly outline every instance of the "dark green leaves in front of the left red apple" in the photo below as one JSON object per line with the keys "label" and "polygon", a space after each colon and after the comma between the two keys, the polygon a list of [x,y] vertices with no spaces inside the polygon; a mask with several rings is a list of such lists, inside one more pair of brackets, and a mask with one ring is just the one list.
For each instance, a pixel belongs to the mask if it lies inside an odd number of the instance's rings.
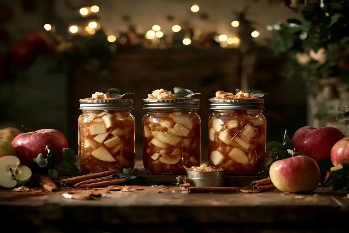
{"label": "dark green leaves in front of the left red apple", "polygon": [[54,180],[58,175],[78,175],[80,174],[80,169],[75,165],[78,156],[75,155],[74,150],[69,148],[64,148],[62,150],[63,162],[57,164],[57,151],[52,150],[50,145],[46,145],[47,157],[45,158],[42,153],[38,154],[34,161],[39,167],[49,168],[48,175]]}

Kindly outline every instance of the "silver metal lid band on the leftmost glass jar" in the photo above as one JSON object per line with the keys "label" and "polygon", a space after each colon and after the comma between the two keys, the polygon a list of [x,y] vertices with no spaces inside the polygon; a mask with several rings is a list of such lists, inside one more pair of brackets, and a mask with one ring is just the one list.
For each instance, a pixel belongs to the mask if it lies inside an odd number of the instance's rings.
{"label": "silver metal lid band on the leftmost glass jar", "polygon": [[133,99],[113,100],[80,100],[82,110],[130,110],[133,109]]}

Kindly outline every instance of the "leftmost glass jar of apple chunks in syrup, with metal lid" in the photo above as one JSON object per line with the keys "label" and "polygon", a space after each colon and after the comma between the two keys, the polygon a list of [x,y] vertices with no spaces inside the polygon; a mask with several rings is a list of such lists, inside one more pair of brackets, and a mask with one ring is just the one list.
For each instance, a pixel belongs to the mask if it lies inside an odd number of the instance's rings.
{"label": "leftmost glass jar of apple chunks in syrup, with metal lid", "polygon": [[122,170],[135,165],[132,99],[80,100],[79,166],[82,172]]}

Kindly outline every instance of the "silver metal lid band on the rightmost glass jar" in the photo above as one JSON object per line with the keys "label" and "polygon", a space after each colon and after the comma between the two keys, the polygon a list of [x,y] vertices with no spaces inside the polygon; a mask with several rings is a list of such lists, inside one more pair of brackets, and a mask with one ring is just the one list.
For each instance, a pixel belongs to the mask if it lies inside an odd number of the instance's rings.
{"label": "silver metal lid band on the rightmost glass jar", "polygon": [[263,99],[209,99],[209,109],[259,110],[263,108]]}

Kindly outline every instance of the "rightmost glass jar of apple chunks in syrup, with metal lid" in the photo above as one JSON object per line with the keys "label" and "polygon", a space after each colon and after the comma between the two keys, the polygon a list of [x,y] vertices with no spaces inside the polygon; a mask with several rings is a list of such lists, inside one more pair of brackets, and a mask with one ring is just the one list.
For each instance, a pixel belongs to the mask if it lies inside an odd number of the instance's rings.
{"label": "rightmost glass jar of apple chunks in syrup, with metal lid", "polygon": [[226,174],[258,174],[266,161],[263,99],[210,99],[208,164]]}

